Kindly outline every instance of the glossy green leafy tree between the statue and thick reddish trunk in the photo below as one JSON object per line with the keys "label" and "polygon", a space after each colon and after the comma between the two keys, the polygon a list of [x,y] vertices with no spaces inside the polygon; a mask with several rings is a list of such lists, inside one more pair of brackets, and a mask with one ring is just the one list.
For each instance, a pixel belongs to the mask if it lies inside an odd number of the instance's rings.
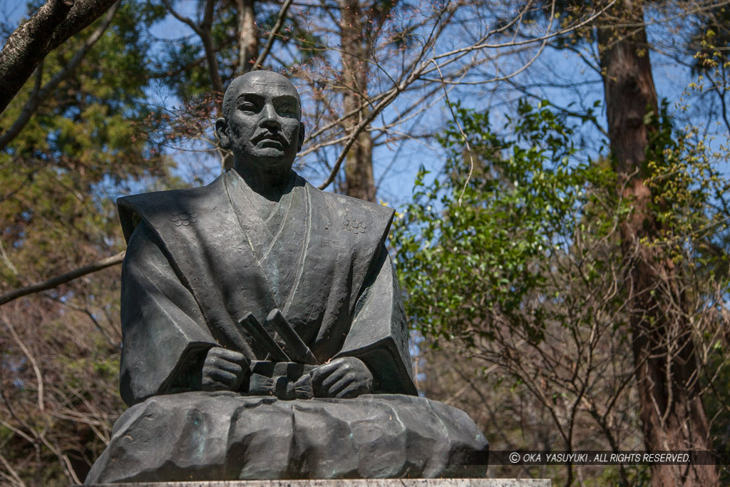
{"label": "glossy green leafy tree between the statue and thick reddish trunk", "polygon": [[[537,426],[519,432],[493,406],[502,437],[492,448],[631,450],[621,259],[607,217],[621,202],[605,191],[609,169],[574,160],[573,128],[553,110],[522,102],[499,136],[488,115],[455,108],[458,121],[441,139],[445,175],[418,183],[396,221],[407,313],[427,340],[454,342],[447,348],[488,367],[477,380],[518,394],[549,425],[542,436]],[[613,480],[629,485],[628,468]],[[574,478],[568,466],[565,485]]]}

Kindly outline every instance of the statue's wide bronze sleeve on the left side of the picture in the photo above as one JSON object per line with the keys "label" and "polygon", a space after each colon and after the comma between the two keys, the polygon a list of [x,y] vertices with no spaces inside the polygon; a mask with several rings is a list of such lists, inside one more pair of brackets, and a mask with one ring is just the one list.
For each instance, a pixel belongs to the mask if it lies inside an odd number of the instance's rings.
{"label": "statue's wide bronze sleeve on the left side of the picture", "polygon": [[193,295],[175,275],[147,224],[128,242],[122,265],[120,393],[128,405],[193,390],[215,340]]}

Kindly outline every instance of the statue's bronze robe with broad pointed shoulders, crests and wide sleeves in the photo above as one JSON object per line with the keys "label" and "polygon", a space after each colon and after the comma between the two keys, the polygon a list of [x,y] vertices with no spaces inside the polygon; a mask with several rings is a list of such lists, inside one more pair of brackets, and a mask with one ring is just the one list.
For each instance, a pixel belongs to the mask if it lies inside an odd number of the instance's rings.
{"label": "statue's bronze robe with broad pointed shoulders, crests and wide sleeves", "polygon": [[119,199],[128,241],[124,401],[194,389],[214,346],[263,360],[265,350],[237,321],[252,312],[264,323],[274,307],[320,363],[357,357],[372,372],[375,393],[416,394],[384,245],[393,210],[324,193],[296,174],[269,215],[257,198],[230,171],[203,188]]}

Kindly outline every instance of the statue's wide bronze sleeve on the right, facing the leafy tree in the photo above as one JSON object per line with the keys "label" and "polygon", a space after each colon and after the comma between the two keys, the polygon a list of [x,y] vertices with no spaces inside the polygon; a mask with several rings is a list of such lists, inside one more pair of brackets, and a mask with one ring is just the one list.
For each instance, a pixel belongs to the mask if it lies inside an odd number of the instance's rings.
{"label": "statue's wide bronze sleeve on the right, facing the leafy tree", "polygon": [[336,357],[364,361],[374,377],[374,393],[418,394],[412,377],[408,327],[391,258],[380,244],[342,350]]}

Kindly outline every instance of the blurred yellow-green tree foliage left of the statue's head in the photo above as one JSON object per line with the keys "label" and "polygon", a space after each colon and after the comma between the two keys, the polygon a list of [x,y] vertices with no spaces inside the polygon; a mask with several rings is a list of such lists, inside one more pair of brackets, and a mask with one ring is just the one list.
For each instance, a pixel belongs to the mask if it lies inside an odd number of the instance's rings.
{"label": "blurred yellow-green tree foliage left of the statue's head", "polygon": [[[14,267],[55,275],[68,261],[117,248],[119,242],[109,240],[116,226],[113,202],[104,190],[161,177],[169,168],[143,128],[150,115],[139,104],[147,85],[144,19],[137,4],[122,7],[107,35],[0,154],[0,239],[14,263],[0,271],[3,288],[20,285]],[[47,58],[43,79],[62,69],[83,41],[74,38]],[[2,126],[18,116],[27,96],[13,100]]]}

